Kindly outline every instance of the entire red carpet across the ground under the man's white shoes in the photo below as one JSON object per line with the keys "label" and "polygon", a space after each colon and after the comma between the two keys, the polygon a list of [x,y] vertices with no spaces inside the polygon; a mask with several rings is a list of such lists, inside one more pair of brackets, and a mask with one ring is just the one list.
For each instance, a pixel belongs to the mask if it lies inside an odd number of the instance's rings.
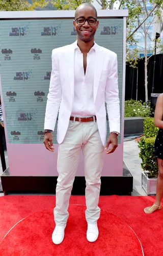
{"label": "entire red carpet across the ground under the man's white shoes", "polygon": [[[0,255],[139,256],[142,244],[145,256],[162,256],[163,210],[143,212],[153,201],[154,197],[147,196],[101,196],[95,243],[86,239],[85,206],[70,206],[65,239],[56,246],[51,241],[55,196],[0,197]],[[85,197],[72,196],[70,204],[85,204]]]}

